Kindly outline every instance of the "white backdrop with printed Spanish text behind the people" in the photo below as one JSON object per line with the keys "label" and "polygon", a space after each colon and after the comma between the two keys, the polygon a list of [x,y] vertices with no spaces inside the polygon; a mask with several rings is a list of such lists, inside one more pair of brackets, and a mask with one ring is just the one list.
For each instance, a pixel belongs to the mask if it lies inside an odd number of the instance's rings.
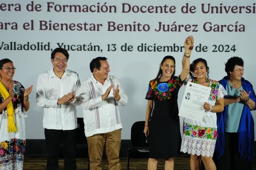
{"label": "white backdrop with printed Spanish text behind the people", "polygon": [[[219,80],[224,77],[226,75],[224,71],[224,63],[232,56],[239,56],[242,57],[245,62],[245,72],[243,77],[249,80],[254,87],[256,85],[255,0],[52,0],[32,2],[33,11],[31,11],[32,8],[30,5],[26,8],[28,4],[31,4],[31,0],[0,0],[0,58],[9,58],[14,62],[14,66],[17,68],[14,75],[15,80],[21,82],[26,88],[31,84],[34,85],[34,89],[29,96],[31,103],[27,113],[28,117],[26,118],[27,139],[44,139],[42,125],[43,108],[39,108],[36,104],[35,88],[38,75],[52,67],[50,61],[51,49],[57,48],[57,43],[65,44],[66,49],[68,49],[67,45],[73,45],[72,49],[77,49],[79,45],[86,45],[86,51],[83,50],[83,48],[82,50],[69,50],[70,58],[67,69],[76,71],[79,74],[81,82],[91,75],[89,63],[93,58],[98,56],[105,56],[108,58],[111,70],[110,74],[119,78],[128,95],[128,104],[125,107],[120,107],[121,121],[123,124],[122,139],[130,139],[131,125],[135,121],[145,120],[147,104],[145,95],[148,83],[151,79],[155,78],[162,58],[166,55],[174,56],[176,59],[176,75],[181,72],[183,52],[181,52],[180,48],[177,51],[178,47],[176,47],[176,51],[175,49],[172,49],[169,50],[169,52],[164,52],[163,48],[162,50],[155,52],[140,52],[138,51],[137,46],[142,43],[146,43],[147,45],[156,44],[156,46],[183,46],[185,38],[189,35],[193,35],[195,46],[191,55],[191,60],[199,57],[205,58],[210,67],[211,79]],[[126,3],[124,9],[122,9],[123,3]],[[182,6],[186,6],[186,3],[189,6],[190,11],[194,13],[183,13],[184,11],[181,11]],[[13,4],[13,6],[8,4]],[[107,6],[106,12],[106,7],[103,6],[104,4]],[[128,11],[129,8],[127,4],[131,7],[135,6],[133,7],[135,12]],[[207,12],[208,4],[210,6],[210,12]],[[69,6],[67,6],[65,12],[63,12],[63,5],[80,5],[81,12],[78,10],[75,12],[74,7],[71,8],[70,12]],[[85,5],[88,6],[87,9],[89,11],[82,12],[82,9],[84,11],[86,10]],[[97,12],[97,6],[99,6],[99,12]],[[110,12],[109,6],[113,6],[111,7],[112,12]],[[136,12],[136,6],[142,8],[142,11]],[[155,6],[159,7],[156,9]],[[162,13],[159,11],[160,7],[163,9]],[[212,12],[211,7],[213,7]],[[94,9],[96,9],[96,12],[93,12]],[[184,9],[185,8],[183,8],[183,10]],[[216,9],[218,9],[218,11]],[[122,12],[122,10],[124,11]],[[156,10],[158,11],[156,12]],[[33,23],[32,25],[31,20]],[[47,29],[45,26],[46,22],[48,25]],[[85,22],[88,24],[86,25],[86,29],[92,27],[93,24],[102,24],[102,26],[99,27],[98,31],[97,27],[95,31],[86,31],[83,25]],[[115,31],[111,31],[114,27],[108,26],[108,22],[115,22]],[[138,25],[136,25],[135,28],[132,27],[131,31],[129,29],[125,31],[124,26],[123,31],[121,31],[122,25],[119,25],[119,30],[117,28],[118,24],[132,25],[134,22],[135,24],[141,24],[141,26],[138,28]],[[161,31],[157,31],[159,22],[165,24],[165,28],[167,28],[167,24],[169,24],[169,31],[165,32],[162,29]],[[49,28],[49,23],[52,24],[51,30]],[[54,23],[58,23],[59,25],[61,23],[68,24],[68,30],[61,30],[61,26],[58,26],[57,24],[53,25]],[[145,24],[149,26],[149,30],[143,31],[142,28]],[[144,26],[144,29],[148,28],[147,25]],[[178,25],[184,25],[184,27],[180,26],[179,30]],[[226,25],[226,27],[223,26],[223,30],[221,30],[221,25]],[[177,29],[175,29],[175,26]],[[212,26],[211,29],[210,26]],[[220,28],[219,30],[218,27]],[[72,31],[72,29],[75,30]],[[24,48],[22,50],[17,50],[18,47],[14,50],[14,44],[11,42],[16,42],[16,46],[19,46],[17,44],[21,44],[22,46],[25,45],[25,49],[27,42],[29,42],[29,46],[32,45],[32,49],[35,48],[33,44],[39,43],[39,45],[42,44],[45,46],[49,43],[49,50],[47,48],[43,50],[25,50]],[[125,43],[127,43],[127,46],[133,46],[133,50],[122,51],[121,46]],[[12,49],[10,47],[11,44],[13,46]],[[110,44],[110,51],[107,51],[108,44]],[[111,51],[111,49],[114,49],[112,44],[115,44],[115,51]],[[205,52],[202,50],[199,51],[199,47],[197,47],[196,51],[195,47],[199,46],[199,44],[201,44],[201,47],[206,46],[204,49],[207,48],[207,50],[204,50]],[[88,50],[88,47],[90,47],[88,45],[98,45],[102,51],[90,51],[90,49]],[[215,46],[217,47],[217,50],[215,50]],[[158,47],[158,49],[160,49],[160,47]],[[183,92],[184,87],[180,89],[179,96],[182,96]],[[179,104],[181,103],[181,97],[179,97],[178,102]],[[252,113],[255,118],[256,112],[253,111]],[[81,106],[77,107],[77,115],[78,117],[83,116]]]}

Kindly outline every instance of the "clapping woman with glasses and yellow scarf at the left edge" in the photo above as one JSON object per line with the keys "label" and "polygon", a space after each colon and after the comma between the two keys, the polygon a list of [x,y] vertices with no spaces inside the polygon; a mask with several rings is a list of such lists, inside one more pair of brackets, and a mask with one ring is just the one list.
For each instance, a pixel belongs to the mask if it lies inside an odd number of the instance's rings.
{"label": "clapping woman with glasses and yellow scarf at the left edge", "polygon": [[11,60],[0,60],[0,170],[23,168],[24,118],[33,86],[25,89],[20,82],[12,80],[15,69]]}

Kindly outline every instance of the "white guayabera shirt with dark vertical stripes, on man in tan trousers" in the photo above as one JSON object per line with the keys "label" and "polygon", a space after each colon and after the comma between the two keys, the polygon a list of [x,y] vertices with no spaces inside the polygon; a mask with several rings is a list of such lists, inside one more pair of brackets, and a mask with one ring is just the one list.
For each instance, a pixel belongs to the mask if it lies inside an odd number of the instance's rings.
{"label": "white guayabera shirt with dark vertical stripes, on man in tan trousers", "polygon": [[[113,88],[107,99],[103,101],[101,95],[105,94],[111,85]],[[119,101],[116,101],[113,95],[113,89],[116,89],[117,85],[119,85]],[[123,128],[118,106],[125,106],[128,97],[116,77],[109,75],[102,85],[91,75],[82,82],[79,94],[82,100],[86,137]]]}

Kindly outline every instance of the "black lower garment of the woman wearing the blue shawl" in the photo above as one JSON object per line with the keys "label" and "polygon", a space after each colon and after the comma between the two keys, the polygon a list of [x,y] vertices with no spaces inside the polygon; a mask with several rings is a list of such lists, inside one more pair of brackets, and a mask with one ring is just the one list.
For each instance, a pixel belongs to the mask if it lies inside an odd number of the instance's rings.
{"label": "black lower garment of the woman wearing the blue shawl", "polygon": [[213,156],[217,170],[251,170],[252,162],[241,158],[238,150],[238,133],[225,132],[224,154]]}

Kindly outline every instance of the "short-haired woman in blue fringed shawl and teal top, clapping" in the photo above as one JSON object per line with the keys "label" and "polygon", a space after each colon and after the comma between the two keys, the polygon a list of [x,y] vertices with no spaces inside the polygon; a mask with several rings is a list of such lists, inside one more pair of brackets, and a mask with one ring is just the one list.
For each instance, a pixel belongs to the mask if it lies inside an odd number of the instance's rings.
{"label": "short-haired woman in blue fringed shawl and teal top, clapping", "polygon": [[231,57],[225,63],[227,76],[219,83],[225,88],[224,111],[217,114],[218,137],[214,161],[218,170],[252,169],[256,96],[243,76],[243,60]]}

